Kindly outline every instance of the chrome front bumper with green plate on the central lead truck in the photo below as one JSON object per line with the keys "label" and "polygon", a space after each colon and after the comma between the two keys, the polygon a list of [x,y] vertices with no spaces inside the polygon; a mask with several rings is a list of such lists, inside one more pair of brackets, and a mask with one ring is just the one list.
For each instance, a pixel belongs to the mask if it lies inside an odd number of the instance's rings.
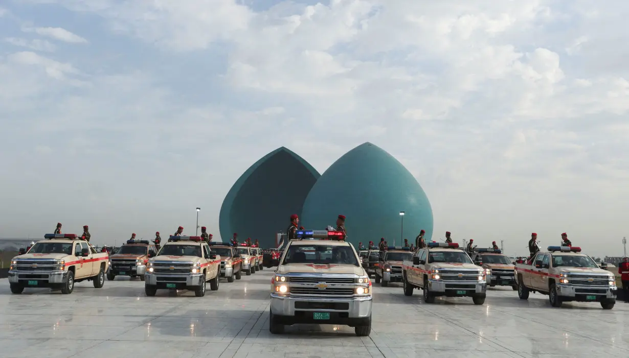
{"label": "chrome front bumper with green plate on the central lead truck", "polygon": [[[371,320],[372,296],[354,298],[292,297],[271,293],[271,312],[276,323],[340,324],[355,327]],[[315,320],[313,313],[330,314],[329,320]]]}

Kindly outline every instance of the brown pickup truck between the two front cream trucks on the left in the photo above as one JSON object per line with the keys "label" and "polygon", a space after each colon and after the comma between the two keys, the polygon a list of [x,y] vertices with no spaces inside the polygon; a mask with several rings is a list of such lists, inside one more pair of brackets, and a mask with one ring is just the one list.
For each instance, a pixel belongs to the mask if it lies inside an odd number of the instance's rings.
{"label": "brown pickup truck between the two front cream trucks on the left", "polygon": [[108,281],[113,281],[116,276],[139,277],[144,281],[148,259],[156,254],[155,245],[148,240],[127,240],[118,252],[109,256]]}

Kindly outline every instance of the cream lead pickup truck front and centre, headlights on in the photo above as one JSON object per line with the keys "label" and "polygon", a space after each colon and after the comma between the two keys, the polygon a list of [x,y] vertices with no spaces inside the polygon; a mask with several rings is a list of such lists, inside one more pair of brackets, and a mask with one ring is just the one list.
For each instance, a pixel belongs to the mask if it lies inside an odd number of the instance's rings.
{"label": "cream lead pickup truck front and centre, headlights on", "polygon": [[269,330],[295,323],[354,327],[371,332],[372,286],[343,231],[296,231],[271,279]]}

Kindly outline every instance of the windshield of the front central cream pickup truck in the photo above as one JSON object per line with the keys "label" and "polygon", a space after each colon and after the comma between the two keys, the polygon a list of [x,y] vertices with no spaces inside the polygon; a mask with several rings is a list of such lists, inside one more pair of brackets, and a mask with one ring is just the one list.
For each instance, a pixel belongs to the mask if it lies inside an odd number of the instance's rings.
{"label": "windshield of the front central cream pickup truck", "polygon": [[283,264],[350,264],[360,266],[350,246],[291,245]]}

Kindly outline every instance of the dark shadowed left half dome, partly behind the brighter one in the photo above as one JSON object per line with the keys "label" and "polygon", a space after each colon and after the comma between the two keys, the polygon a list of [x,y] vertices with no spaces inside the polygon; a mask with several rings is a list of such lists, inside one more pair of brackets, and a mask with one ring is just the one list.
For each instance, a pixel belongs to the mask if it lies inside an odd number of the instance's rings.
{"label": "dark shadowed left half dome, partly behind the brighter one", "polygon": [[221,239],[234,232],[238,241],[258,239],[275,247],[276,234],[285,232],[291,214],[301,217],[304,200],[320,174],[301,156],[281,147],[250,166],[227,193],[219,217]]}

